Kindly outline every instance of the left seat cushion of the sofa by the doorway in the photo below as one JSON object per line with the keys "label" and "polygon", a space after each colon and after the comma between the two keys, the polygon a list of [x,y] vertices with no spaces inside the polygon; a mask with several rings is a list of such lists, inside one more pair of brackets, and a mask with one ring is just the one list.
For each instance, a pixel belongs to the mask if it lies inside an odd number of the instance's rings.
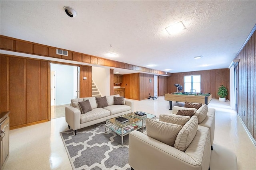
{"label": "left seat cushion of the sofa by the doorway", "polygon": [[102,108],[96,108],[96,109],[92,109],[92,111],[88,111],[86,114],[81,114],[80,122],[85,123],[85,122],[100,119],[102,117],[106,117],[109,115],[110,115],[110,111]]}

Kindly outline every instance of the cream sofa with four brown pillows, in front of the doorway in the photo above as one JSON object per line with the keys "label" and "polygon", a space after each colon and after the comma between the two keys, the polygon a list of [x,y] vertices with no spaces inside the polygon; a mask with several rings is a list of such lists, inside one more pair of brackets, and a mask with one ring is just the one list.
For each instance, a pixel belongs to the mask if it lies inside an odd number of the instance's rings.
{"label": "cream sofa with four brown pillows, in front of the doorway", "polygon": [[[126,100],[124,98],[124,105],[114,105],[114,96],[119,97],[119,94],[106,96],[108,106],[98,108],[95,97],[88,98],[76,98],[71,100],[70,106],[65,108],[66,122],[68,123],[68,128],[70,127],[74,130],[76,135],[76,130],[96,123],[105,121],[106,119],[111,119],[126,113],[133,112],[133,101]],[[88,111],[82,114],[78,102],[83,102],[89,100],[92,107],[92,111]]]}

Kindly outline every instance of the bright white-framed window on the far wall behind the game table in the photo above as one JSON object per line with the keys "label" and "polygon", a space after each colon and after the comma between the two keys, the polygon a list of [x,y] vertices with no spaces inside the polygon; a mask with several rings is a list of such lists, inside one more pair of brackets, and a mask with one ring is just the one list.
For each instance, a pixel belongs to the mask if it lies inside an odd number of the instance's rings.
{"label": "bright white-framed window on the far wall behind the game table", "polygon": [[184,76],[184,92],[199,92],[201,90],[201,75]]}

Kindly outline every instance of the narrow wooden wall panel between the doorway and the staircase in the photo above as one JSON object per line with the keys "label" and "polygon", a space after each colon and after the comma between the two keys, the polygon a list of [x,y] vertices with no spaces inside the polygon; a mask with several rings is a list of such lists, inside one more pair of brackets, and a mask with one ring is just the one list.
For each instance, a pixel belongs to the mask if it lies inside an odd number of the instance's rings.
{"label": "narrow wooden wall panel between the doorway and the staircase", "polygon": [[[87,77],[87,80],[83,80]],[[80,98],[92,96],[92,67],[80,66]]]}

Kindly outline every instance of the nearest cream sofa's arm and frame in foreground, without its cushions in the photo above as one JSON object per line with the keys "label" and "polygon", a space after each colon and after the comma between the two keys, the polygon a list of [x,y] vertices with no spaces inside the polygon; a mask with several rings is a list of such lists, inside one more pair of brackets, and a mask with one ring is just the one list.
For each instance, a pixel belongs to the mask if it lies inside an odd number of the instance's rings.
{"label": "nearest cream sofa's arm and frame in foreground, without its cushions", "polygon": [[200,148],[189,146],[189,153],[175,149],[139,131],[132,131],[129,134],[129,164],[135,170],[208,169],[210,134],[208,128],[202,129],[204,134],[198,133],[197,135],[201,143],[206,143],[206,145]]}

